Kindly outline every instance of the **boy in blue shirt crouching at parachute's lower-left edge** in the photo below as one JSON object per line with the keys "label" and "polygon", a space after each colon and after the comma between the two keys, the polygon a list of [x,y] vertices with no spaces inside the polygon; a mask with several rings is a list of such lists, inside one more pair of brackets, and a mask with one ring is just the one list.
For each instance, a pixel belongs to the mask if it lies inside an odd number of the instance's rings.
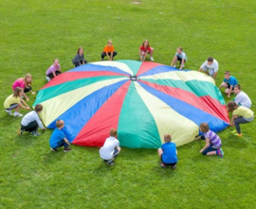
{"label": "boy in blue shirt crouching at parachute's lower-left edge", "polygon": [[49,145],[50,149],[52,151],[57,151],[57,148],[64,147],[64,152],[70,151],[71,148],[68,146],[71,146],[68,140],[65,138],[64,132],[62,129],[64,129],[64,121],[63,120],[57,120],[56,121],[56,129],[52,132],[50,139],[49,139]]}

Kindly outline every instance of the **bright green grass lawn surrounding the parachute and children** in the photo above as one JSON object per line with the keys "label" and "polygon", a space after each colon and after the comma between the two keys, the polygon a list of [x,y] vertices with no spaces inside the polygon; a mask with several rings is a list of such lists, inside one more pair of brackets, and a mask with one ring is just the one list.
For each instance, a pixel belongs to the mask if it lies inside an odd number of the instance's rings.
{"label": "bright green grass lawn surrounding the parachute and children", "polygon": [[[255,10],[256,2],[247,0],[1,0],[0,102],[26,73],[34,90],[43,87],[54,58],[63,71],[73,68],[79,46],[87,61],[100,61],[112,39],[117,60],[138,60],[138,46],[148,39],[155,62],[170,64],[179,45],[187,69],[198,70],[212,56],[219,61],[216,85],[231,71],[255,112]],[[31,106],[36,96],[29,97]],[[171,170],[158,165],[155,149],[122,148],[111,167],[102,163],[99,148],[53,153],[51,130],[18,136],[20,121],[2,108],[0,208],[256,208],[255,122],[242,125],[243,138],[229,129],[219,133],[223,159],[202,156],[203,142],[192,142],[178,148]]]}

